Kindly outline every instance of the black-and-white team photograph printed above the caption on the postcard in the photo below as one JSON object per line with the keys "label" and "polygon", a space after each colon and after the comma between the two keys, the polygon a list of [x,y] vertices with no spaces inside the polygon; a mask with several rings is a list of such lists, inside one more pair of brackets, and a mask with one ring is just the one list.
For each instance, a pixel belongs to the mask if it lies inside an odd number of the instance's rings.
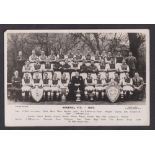
{"label": "black-and-white team photograph printed above the caption on the postcard", "polygon": [[146,36],[7,33],[10,104],[145,104]]}

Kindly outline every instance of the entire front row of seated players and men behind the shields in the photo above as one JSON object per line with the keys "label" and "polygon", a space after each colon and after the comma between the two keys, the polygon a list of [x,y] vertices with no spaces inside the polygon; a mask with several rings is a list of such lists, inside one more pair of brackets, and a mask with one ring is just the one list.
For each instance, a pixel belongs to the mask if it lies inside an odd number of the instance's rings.
{"label": "entire front row of seated players and men behind the shields", "polygon": [[[115,83],[120,87],[121,98],[128,98],[135,96],[136,99],[141,100],[143,97],[143,78],[136,72],[133,78],[126,76],[120,79],[118,73],[115,73],[114,78],[110,78],[109,73],[106,73],[105,78],[101,78],[101,74],[97,74],[96,78],[93,78],[93,74],[88,73],[87,78],[83,79],[79,72],[75,72],[75,76],[69,82],[66,73],[63,73],[61,78],[54,73],[52,79],[48,77],[48,73],[44,73],[43,78],[39,72],[35,73],[32,78],[31,74],[25,73],[23,79],[18,75],[18,71],[14,72],[12,78],[12,86],[14,91],[12,92],[17,100],[22,92],[23,99],[31,98],[31,89],[40,87],[44,90],[43,98],[47,100],[59,99],[61,96],[68,95],[68,99],[76,99],[76,93],[79,89],[81,93],[81,99],[89,100],[103,100],[106,95],[106,87]],[[22,81],[22,82],[21,82]]]}

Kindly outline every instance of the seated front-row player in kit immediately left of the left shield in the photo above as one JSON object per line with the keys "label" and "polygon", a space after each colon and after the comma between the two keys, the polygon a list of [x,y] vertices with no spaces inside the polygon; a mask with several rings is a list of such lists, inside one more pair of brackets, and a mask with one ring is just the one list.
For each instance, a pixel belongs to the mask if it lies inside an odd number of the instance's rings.
{"label": "seated front-row player in kit immediately left of the left shield", "polygon": [[22,97],[23,100],[30,99],[32,87],[32,77],[29,73],[25,73],[22,79]]}

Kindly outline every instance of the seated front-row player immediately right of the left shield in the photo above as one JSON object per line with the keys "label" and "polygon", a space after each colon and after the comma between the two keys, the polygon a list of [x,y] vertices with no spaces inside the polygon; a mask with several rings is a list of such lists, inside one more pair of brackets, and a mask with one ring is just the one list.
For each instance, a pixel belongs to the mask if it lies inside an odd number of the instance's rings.
{"label": "seated front-row player immediately right of the left shield", "polygon": [[48,77],[48,73],[44,73],[43,78],[43,90],[44,90],[44,99],[50,99],[51,96],[51,80]]}

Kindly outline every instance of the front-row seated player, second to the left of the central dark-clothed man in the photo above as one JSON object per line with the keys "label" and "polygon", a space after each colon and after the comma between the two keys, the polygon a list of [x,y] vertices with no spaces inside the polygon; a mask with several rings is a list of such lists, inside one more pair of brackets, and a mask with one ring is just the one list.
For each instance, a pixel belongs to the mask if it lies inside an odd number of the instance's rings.
{"label": "front-row seated player, second to the left of the central dark-clothed man", "polygon": [[57,77],[57,73],[54,73],[52,82],[51,82],[51,99],[53,100],[54,96],[56,99],[60,96],[60,79]]}

